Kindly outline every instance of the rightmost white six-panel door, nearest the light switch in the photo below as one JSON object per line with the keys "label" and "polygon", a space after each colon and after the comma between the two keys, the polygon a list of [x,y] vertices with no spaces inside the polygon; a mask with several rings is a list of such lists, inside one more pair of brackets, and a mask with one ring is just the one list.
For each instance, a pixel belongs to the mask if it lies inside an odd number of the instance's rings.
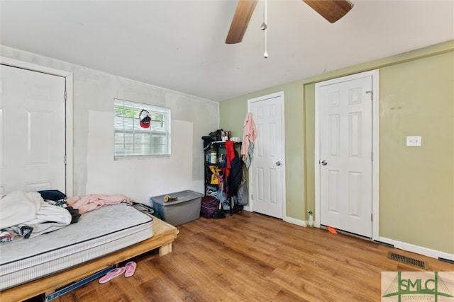
{"label": "rightmost white six-panel door, nearest the light switch", "polygon": [[320,223],[372,237],[372,76],[318,86]]}

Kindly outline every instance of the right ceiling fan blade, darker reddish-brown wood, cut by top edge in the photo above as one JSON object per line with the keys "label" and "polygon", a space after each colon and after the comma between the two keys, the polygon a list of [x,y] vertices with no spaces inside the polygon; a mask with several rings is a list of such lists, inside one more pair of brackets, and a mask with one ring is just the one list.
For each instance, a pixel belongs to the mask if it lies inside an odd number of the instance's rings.
{"label": "right ceiling fan blade, darker reddish-brown wood, cut by top edge", "polygon": [[348,0],[303,0],[330,23],[338,21],[353,8]]}

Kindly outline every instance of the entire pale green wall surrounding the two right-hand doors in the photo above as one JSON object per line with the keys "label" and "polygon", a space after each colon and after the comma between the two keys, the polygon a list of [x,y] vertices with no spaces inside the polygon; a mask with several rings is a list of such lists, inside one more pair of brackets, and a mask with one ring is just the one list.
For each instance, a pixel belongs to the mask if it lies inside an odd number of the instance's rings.
{"label": "entire pale green wall surrounding the two right-hand doors", "polygon": [[[247,100],[284,91],[286,215],[314,211],[315,83],[380,70],[379,236],[454,254],[454,41],[220,103],[220,127],[242,134]],[[421,147],[406,147],[421,135]]]}

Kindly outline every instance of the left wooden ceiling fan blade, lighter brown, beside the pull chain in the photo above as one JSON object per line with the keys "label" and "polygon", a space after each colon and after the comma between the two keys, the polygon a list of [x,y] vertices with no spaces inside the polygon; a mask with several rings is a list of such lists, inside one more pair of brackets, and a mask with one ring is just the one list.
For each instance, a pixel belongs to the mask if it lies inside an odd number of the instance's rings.
{"label": "left wooden ceiling fan blade, lighter brown, beside the pull chain", "polygon": [[253,16],[258,0],[240,0],[236,6],[230,29],[228,30],[226,44],[236,44],[243,40],[243,36],[248,28],[250,17]]}

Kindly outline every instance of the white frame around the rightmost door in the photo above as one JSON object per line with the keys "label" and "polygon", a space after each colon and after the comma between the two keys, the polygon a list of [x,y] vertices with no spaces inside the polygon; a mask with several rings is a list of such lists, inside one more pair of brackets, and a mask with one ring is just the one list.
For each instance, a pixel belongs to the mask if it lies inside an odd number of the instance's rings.
{"label": "white frame around the rightmost door", "polygon": [[379,227],[379,196],[378,196],[378,167],[379,167],[379,137],[378,137],[378,118],[379,118],[379,95],[378,95],[378,69],[361,72],[359,74],[352,74],[343,76],[341,78],[331,79],[316,83],[315,85],[315,151],[314,151],[314,172],[315,172],[315,217],[314,226],[320,227],[320,129],[319,129],[319,102],[320,95],[319,89],[321,86],[331,85],[334,83],[341,83],[345,81],[352,81],[355,79],[365,78],[372,76],[372,240],[378,240],[378,227]]}

